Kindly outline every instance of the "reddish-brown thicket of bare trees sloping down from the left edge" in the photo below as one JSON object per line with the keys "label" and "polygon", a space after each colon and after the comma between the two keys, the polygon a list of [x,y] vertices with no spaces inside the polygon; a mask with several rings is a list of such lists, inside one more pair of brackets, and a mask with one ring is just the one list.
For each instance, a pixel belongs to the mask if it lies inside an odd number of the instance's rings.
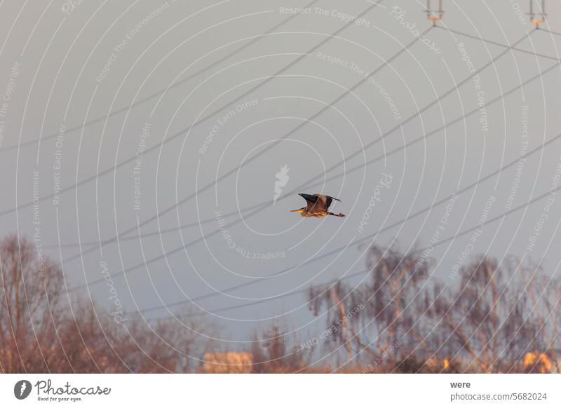
{"label": "reddish-brown thicket of bare trees sloping down from the left edge", "polygon": [[2,372],[187,372],[207,343],[198,320],[117,322],[69,299],[60,268],[17,236],[0,240],[0,278]]}

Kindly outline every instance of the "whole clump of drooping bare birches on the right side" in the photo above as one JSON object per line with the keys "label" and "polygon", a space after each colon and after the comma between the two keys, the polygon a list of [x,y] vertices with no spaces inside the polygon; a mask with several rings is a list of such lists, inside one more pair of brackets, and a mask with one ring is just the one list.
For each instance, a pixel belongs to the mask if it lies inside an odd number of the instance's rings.
{"label": "whole clump of drooping bare birches on the right side", "polygon": [[342,333],[330,337],[339,350],[353,345],[359,372],[559,370],[558,279],[515,259],[499,265],[481,258],[464,265],[459,279],[442,290],[415,252],[373,246],[369,253],[370,280],[360,287],[338,282],[309,292],[311,309],[318,314],[325,308],[328,321],[365,305],[359,318],[348,320],[349,341]]}

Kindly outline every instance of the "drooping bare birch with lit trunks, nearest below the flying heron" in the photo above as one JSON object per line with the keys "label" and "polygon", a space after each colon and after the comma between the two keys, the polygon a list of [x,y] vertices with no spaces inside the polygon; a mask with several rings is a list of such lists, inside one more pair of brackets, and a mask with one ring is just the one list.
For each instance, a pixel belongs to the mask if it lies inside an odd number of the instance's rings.
{"label": "drooping bare birch with lit trunks, nearest below the flying heron", "polygon": [[[369,355],[368,360],[376,359],[392,344],[401,344],[403,352],[405,340],[421,338],[415,322],[428,301],[421,287],[428,278],[429,262],[416,253],[373,245],[366,257],[370,280],[356,288],[337,282],[332,287],[311,289],[311,310],[317,315],[325,307],[332,324],[344,322],[343,329],[334,332],[331,339],[344,344],[349,352],[350,344],[354,344],[355,353]],[[356,313],[349,316],[353,310]]]}

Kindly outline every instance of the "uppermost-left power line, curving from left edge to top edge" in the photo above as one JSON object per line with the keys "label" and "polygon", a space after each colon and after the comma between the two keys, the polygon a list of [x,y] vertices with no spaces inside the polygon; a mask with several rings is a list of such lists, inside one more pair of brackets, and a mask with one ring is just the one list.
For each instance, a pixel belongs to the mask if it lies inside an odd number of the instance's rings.
{"label": "uppermost-left power line, curving from left edge to top edge", "polygon": [[[309,4],[307,4],[306,6],[304,6],[304,8],[309,8],[311,6],[313,6],[313,4],[316,4],[319,0],[313,0],[311,1]],[[240,53],[241,51],[245,50],[245,48],[248,48],[250,46],[252,46],[254,43],[256,43],[257,41],[259,41],[260,39],[262,39],[264,36],[273,33],[276,29],[278,29],[279,27],[282,27],[283,25],[285,25],[287,22],[289,22],[290,20],[292,20],[293,18],[295,18],[297,16],[297,14],[292,14],[290,15],[288,18],[285,18],[283,21],[279,22],[277,25],[274,25],[273,27],[271,27],[270,29],[268,29],[266,32],[264,32],[263,34],[259,34],[259,36],[255,36],[253,39],[251,39],[250,41],[248,41],[247,43],[243,43],[241,46],[239,46],[238,48],[235,48],[234,50],[232,50],[230,53],[227,53],[227,55],[224,55],[223,57],[220,57],[218,60],[216,60],[215,62],[212,62],[211,64],[208,64],[206,67],[199,69],[198,71],[194,72],[193,74],[190,74],[188,76],[186,76],[184,79],[181,79],[180,81],[177,81],[175,83],[172,83],[170,86],[168,86],[167,88],[161,89],[161,90],[157,90],[155,93],[151,93],[150,95],[137,100],[137,102],[134,102],[132,104],[129,104],[126,107],[121,107],[119,109],[116,109],[115,111],[111,111],[109,112],[109,114],[100,116],[98,118],[92,119],[90,121],[87,121],[81,125],[76,125],[73,128],[68,128],[67,130],[65,130],[65,135],[68,135],[69,133],[72,133],[76,130],[81,130],[82,128],[88,128],[90,125],[94,125],[95,123],[100,123],[101,121],[104,121],[107,118],[111,118],[113,116],[116,116],[118,114],[122,114],[125,111],[128,111],[130,109],[133,109],[134,107],[139,106],[140,104],[143,104],[144,102],[148,102],[149,100],[154,99],[155,97],[158,97],[160,95],[163,95],[164,93],[167,93],[168,90],[173,89],[173,88],[177,88],[178,86],[182,85],[183,83],[186,83],[187,81],[189,81],[190,79],[193,79],[194,77],[202,74],[203,72],[207,72],[208,69],[212,69],[213,67],[216,67],[218,64],[221,64],[222,62],[229,60],[230,57],[233,57],[234,55],[236,55],[237,53]],[[9,150],[13,150],[13,149],[17,149],[18,147],[25,147],[25,146],[29,146],[32,144],[36,144],[39,143],[39,141],[46,141],[46,140],[50,140],[50,139],[54,139],[55,137],[57,137],[59,135],[58,132],[52,133],[46,137],[39,137],[37,139],[34,140],[29,140],[28,142],[23,142],[20,144],[13,144],[11,146],[7,146],[4,147],[2,149],[0,149],[0,152],[2,151],[9,151]]]}

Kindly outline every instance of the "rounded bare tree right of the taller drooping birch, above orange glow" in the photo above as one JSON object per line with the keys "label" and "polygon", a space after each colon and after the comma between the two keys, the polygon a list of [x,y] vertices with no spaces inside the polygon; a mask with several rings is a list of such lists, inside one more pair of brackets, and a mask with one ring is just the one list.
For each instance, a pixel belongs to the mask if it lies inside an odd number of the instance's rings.
{"label": "rounded bare tree right of the taller drooping birch, above orange glow", "polygon": [[[469,372],[501,372],[535,341],[535,322],[515,262],[482,258],[461,269],[459,285],[438,301],[441,339]],[[533,340],[532,340],[533,339]]]}

